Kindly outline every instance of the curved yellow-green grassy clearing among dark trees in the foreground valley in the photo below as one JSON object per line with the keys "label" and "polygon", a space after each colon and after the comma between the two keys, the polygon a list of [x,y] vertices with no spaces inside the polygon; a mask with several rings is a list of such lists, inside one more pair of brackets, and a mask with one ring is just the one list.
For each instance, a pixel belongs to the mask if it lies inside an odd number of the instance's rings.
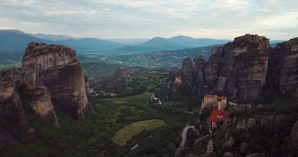
{"label": "curved yellow-green grassy clearing among dark trees in the foreground valley", "polygon": [[165,125],[167,125],[167,123],[159,119],[132,123],[117,131],[116,135],[113,137],[113,142],[118,145],[124,146],[126,144],[126,141],[130,140],[132,136],[137,135],[142,130],[152,130]]}

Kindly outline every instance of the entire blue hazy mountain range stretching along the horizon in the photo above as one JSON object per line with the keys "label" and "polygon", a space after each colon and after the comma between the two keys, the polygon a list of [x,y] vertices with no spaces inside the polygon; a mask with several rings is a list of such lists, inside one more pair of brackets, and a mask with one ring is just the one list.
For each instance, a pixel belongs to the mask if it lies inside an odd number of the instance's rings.
{"label": "entire blue hazy mountain range stretching along the horizon", "polygon": [[[101,39],[101,38],[73,38],[67,35],[26,34],[20,30],[0,30],[0,64],[10,64],[20,61],[27,44],[44,42],[46,44],[66,45],[75,49],[79,54],[94,53],[102,57],[139,54],[164,50],[180,50],[185,48],[203,47],[215,44],[225,44],[231,40],[192,38],[175,36],[171,38],[155,37],[153,39]],[[282,40],[271,41],[275,47]],[[82,56],[83,57],[83,56]],[[83,59],[83,58],[81,58]],[[101,58],[100,58],[101,59]],[[84,58],[83,60],[88,60]]]}

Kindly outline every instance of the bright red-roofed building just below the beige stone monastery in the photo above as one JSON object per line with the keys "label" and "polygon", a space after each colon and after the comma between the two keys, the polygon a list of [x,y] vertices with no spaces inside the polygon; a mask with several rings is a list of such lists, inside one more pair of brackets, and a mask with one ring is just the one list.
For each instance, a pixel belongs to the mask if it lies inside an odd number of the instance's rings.
{"label": "bright red-roofed building just below the beige stone monastery", "polygon": [[209,127],[211,130],[217,129],[217,124],[221,121],[230,121],[231,119],[229,117],[225,117],[225,111],[223,110],[213,110],[208,117],[209,120]]}

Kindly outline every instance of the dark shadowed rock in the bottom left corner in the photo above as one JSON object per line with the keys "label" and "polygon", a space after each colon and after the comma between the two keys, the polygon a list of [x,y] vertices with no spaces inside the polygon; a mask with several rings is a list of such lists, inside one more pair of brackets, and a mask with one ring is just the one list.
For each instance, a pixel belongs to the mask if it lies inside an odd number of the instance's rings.
{"label": "dark shadowed rock in the bottom left corner", "polygon": [[14,148],[20,145],[20,141],[10,134],[6,129],[0,126],[0,149],[4,146]]}

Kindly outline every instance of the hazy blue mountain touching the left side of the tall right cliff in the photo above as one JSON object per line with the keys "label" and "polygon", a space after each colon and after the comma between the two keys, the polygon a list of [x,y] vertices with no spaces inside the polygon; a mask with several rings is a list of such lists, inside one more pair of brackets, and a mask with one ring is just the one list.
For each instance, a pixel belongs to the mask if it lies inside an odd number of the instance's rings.
{"label": "hazy blue mountain touching the left side of the tall right cliff", "polygon": [[184,45],[184,46],[194,46],[194,47],[201,47],[201,46],[209,46],[215,44],[226,44],[232,40],[226,39],[210,39],[210,38],[192,38],[188,36],[175,36],[168,39],[171,42],[176,44]]}

